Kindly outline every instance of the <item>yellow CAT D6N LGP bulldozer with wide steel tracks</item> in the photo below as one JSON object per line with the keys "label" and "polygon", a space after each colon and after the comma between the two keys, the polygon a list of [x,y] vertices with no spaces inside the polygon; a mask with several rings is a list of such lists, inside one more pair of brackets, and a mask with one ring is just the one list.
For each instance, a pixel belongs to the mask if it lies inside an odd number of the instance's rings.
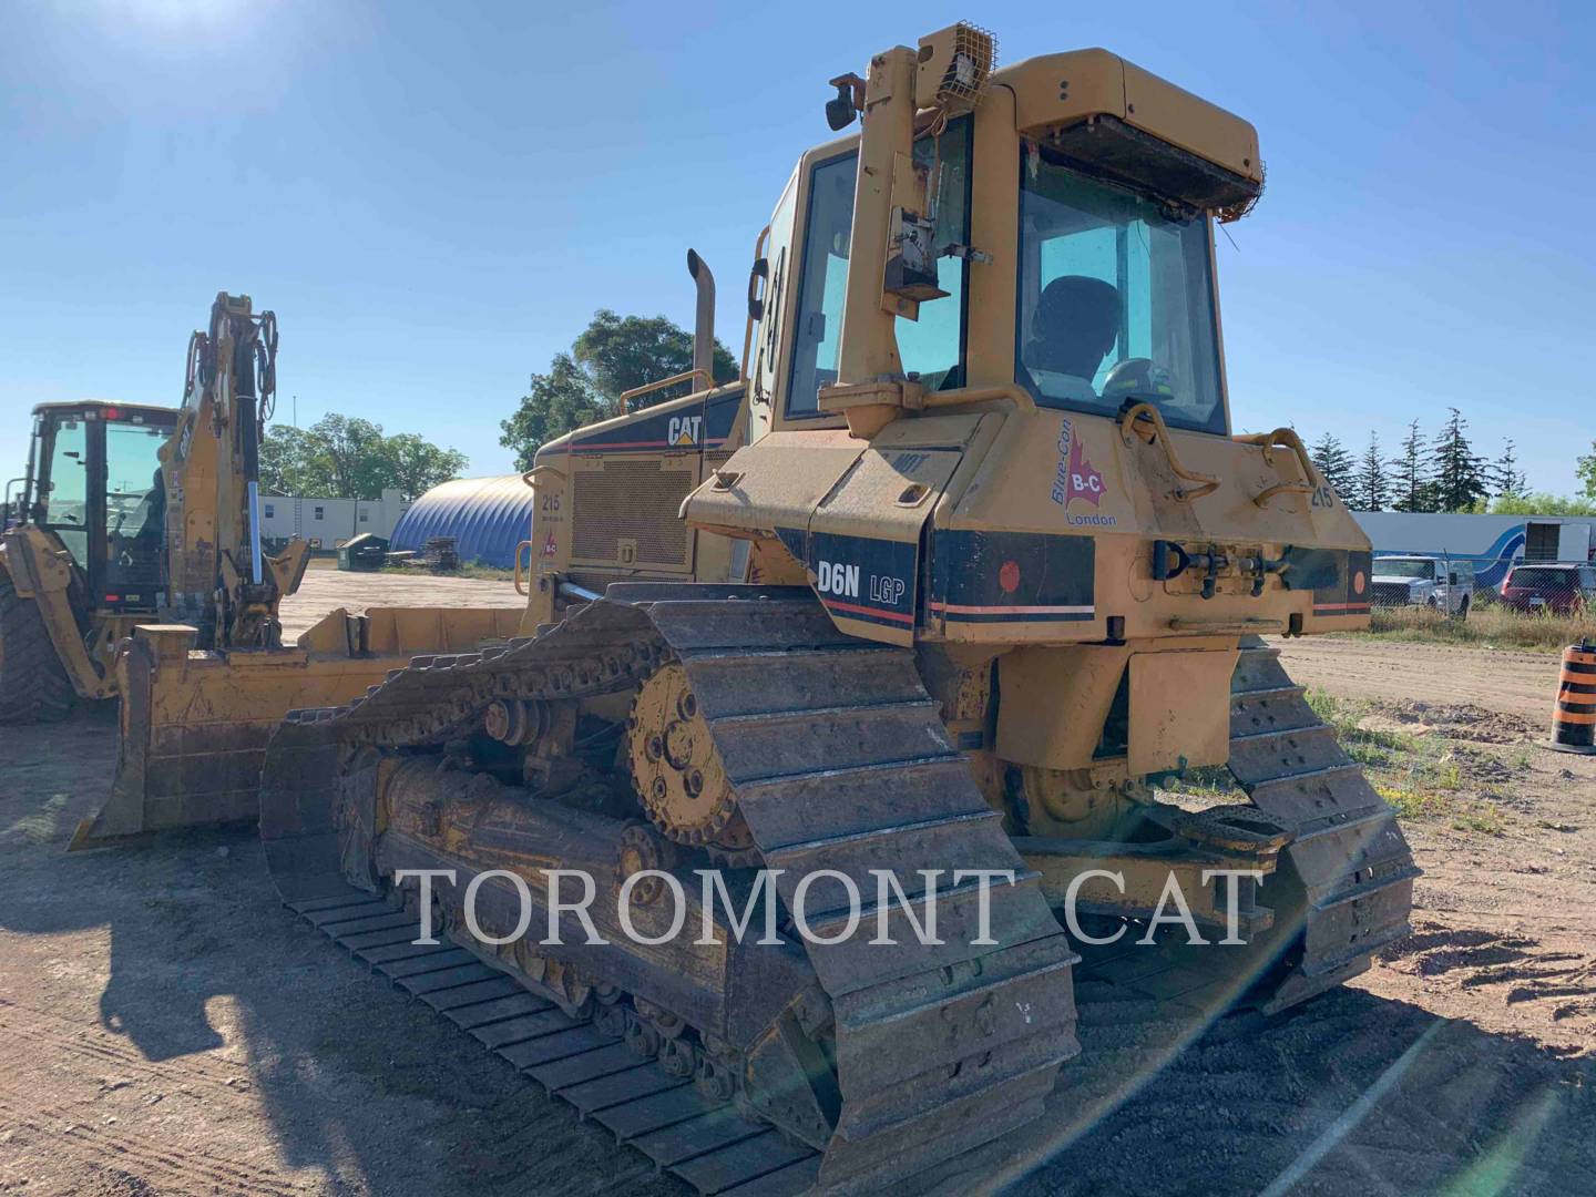
{"label": "yellow CAT D6N LGP bulldozer with wide steel tracks", "polygon": [[[924,1191],[1042,1111],[1084,956],[1282,1010],[1417,871],[1262,638],[1365,626],[1369,544],[1294,433],[1231,428],[1253,126],[964,24],[832,86],[862,129],[757,239],[741,380],[701,302],[694,394],[536,455],[519,635],[292,712],[262,782],[294,910],[702,1192]],[[1219,766],[1234,801],[1160,796]],[[696,870],[825,934],[755,942]],[[672,881],[693,930],[624,934]]]}

